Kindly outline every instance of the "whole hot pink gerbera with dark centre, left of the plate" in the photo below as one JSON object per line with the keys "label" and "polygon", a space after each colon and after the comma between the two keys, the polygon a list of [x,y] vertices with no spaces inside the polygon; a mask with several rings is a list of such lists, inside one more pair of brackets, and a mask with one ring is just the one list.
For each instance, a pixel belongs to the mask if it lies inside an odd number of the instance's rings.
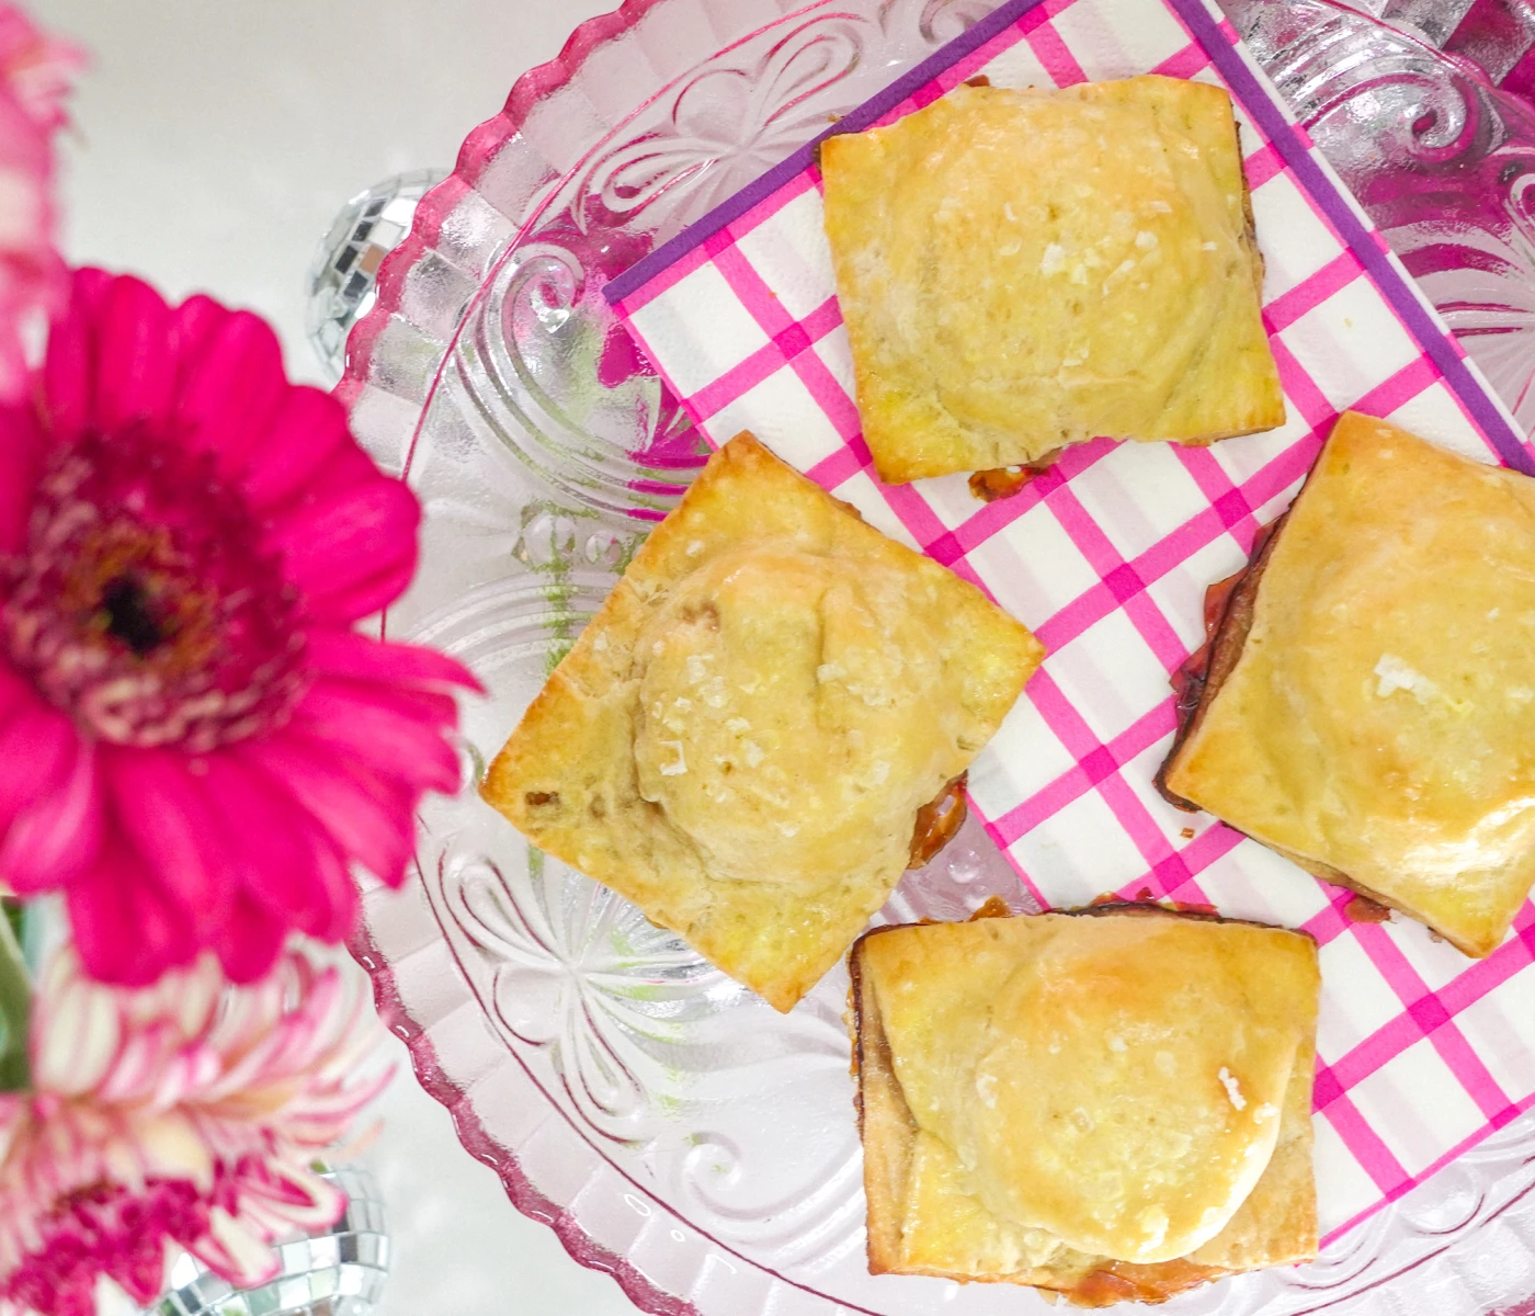
{"label": "whole hot pink gerbera with dark centre, left of the plate", "polygon": [[0,886],[63,888],[98,978],[201,947],[235,981],[353,926],[453,791],[442,654],[353,631],[421,510],[272,330],[74,276],[35,405],[0,410]]}

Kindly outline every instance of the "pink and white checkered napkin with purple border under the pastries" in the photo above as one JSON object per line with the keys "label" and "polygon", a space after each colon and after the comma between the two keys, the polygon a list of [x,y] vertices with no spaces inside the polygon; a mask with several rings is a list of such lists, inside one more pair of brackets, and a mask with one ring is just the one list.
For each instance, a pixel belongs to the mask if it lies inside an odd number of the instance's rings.
{"label": "pink and white checkered napkin with purple border under the pastries", "polygon": [[1335,1238],[1535,1104],[1535,909],[1474,963],[1408,921],[1358,924],[1323,886],[1151,785],[1168,674],[1203,640],[1205,587],[1246,560],[1334,418],[1386,416],[1535,470],[1507,415],[1343,192],[1230,23],[1202,0],[1013,0],[844,118],[900,118],[959,81],[1045,86],[1164,72],[1225,86],[1242,124],[1265,319],[1289,421],[1211,448],[1096,441],[1022,493],[870,468],[809,149],[609,286],[715,442],[752,430],[889,534],[985,588],[1050,657],[970,771],[970,797],[1047,906],[1105,889],[1210,901],[1322,944],[1315,1089],[1323,1233]]}

